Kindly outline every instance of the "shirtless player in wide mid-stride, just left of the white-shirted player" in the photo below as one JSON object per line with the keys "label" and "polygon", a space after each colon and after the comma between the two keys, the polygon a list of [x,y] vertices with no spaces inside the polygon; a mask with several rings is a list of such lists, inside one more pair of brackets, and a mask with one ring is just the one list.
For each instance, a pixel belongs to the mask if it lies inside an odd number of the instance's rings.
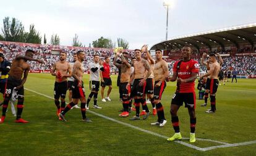
{"label": "shirtless player in wide mid-stride, just left of the white-shirted player", "polygon": [[82,113],[82,121],[84,122],[92,122],[85,115],[86,109],[86,99],[85,99],[85,89],[83,88],[83,60],[85,60],[85,52],[77,51],[77,60],[73,65],[72,76],[75,78],[74,83],[72,84],[72,102],[70,102],[66,108],[59,114],[59,117],[63,121],[67,121],[64,115],[74,106],[77,105],[79,100],[81,101],[81,113]]}

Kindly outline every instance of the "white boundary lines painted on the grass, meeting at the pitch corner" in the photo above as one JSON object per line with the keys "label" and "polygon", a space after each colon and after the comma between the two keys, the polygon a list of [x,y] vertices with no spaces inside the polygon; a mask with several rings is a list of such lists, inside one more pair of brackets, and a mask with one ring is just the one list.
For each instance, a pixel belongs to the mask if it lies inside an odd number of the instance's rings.
{"label": "white boundary lines painted on the grass, meeting at the pitch corner", "polygon": [[[49,99],[54,99],[53,97],[51,96],[47,96],[45,94],[41,94],[40,92],[36,92],[36,91],[33,91],[31,89],[27,89],[25,88],[27,91],[31,91],[31,92],[35,92],[36,94],[39,94],[41,96],[45,96],[45,97],[48,97]],[[129,123],[124,123],[122,121],[119,121],[119,120],[115,120],[114,118],[109,118],[109,117],[106,117],[105,115],[101,115],[100,113],[96,113],[96,112],[93,112],[92,110],[87,110],[87,112],[90,112],[90,113],[93,113],[94,115],[97,115],[99,117],[102,117],[102,118],[105,118],[107,120],[111,120],[111,121],[114,121],[116,123],[119,123],[121,125],[124,125],[124,126],[128,126],[130,128],[134,128],[134,129],[137,129],[139,131],[142,131],[142,132],[145,132],[145,133],[148,133],[148,134],[151,134],[151,135],[154,135],[154,136],[158,136],[160,138],[164,138],[164,139],[167,139],[168,136],[163,136],[161,134],[158,134],[158,133],[154,133],[152,131],[148,131],[146,129],[142,129],[142,128],[139,128],[137,126],[133,126],[133,125],[130,125]],[[183,138],[183,139],[189,139],[189,138]],[[174,142],[177,142],[179,144],[182,144],[184,146],[187,146],[187,147],[190,147],[192,149],[196,149],[196,150],[200,150],[200,151],[207,151],[207,150],[213,150],[213,149],[218,149],[218,148],[224,148],[224,147],[235,147],[235,146],[245,146],[245,145],[249,145],[249,144],[256,144],[256,141],[248,141],[248,142],[240,142],[240,143],[235,143],[235,144],[229,144],[227,142],[221,142],[221,141],[215,141],[215,140],[211,140],[211,139],[200,139],[200,138],[197,138],[198,141],[209,141],[209,142],[216,142],[216,143],[219,143],[219,144],[223,144],[221,146],[211,146],[211,147],[205,147],[205,148],[201,148],[201,147],[197,147],[197,146],[193,146],[191,144],[188,144],[186,142],[182,142],[182,141],[174,141]]]}

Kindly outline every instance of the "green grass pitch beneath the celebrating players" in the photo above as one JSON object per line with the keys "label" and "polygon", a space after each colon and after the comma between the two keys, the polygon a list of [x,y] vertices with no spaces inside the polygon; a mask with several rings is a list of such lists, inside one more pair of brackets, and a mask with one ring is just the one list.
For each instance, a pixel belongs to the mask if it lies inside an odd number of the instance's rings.
{"label": "green grass pitch beneath the celebrating players", "polygon": [[[85,94],[88,96],[89,75],[85,75]],[[101,110],[92,108],[90,111],[100,113],[124,123],[161,134],[172,136],[174,131],[169,113],[171,97],[176,83],[168,83],[162,97],[164,112],[168,123],[163,128],[151,126],[156,117],[150,115],[147,120],[129,121],[118,116],[122,108],[116,87],[116,76],[112,76],[113,91],[111,102],[101,102]],[[54,77],[49,74],[29,74],[25,88],[53,97]],[[106,88],[107,89],[107,88]],[[105,92],[106,92],[105,89]],[[198,97],[198,94],[197,94]],[[2,101],[2,97],[1,97]],[[66,97],[66,101],[68,98]],[[238,83],[226,83],[219,86],[216,94],[215,114],[207,114],[210,106],[200,107],[202,100],[197,100],[196,137],[234,144],[256,140],[256,80],[238,79]],[[210,100],[208,101],[208,104]],[[25,91],[25,102],[22,117],[30,121],[28,124],[14,123],[15,118],[9,111],[6,120],[0,125],[0,155],[255,155],[256,144],[237,147],[225,147],[207,151],[199,151],[190,147],[168,142],[166,139],[148,134],[129,126],[99,117],[87,112],[92,123],[81,121],[80,109],[70,110],[66,114],[67,122],[56,117],[56,106],[53,99],[35,92]],[[148,104],[151,110],[151,104]],[[2,107],[0,108],[2,112]],[[190,132],[189,114],[187,109],[179,110],[182,137],[188,138]],[[187,139],[182,142],[189,143]],[[200,148],[220,146],[210,141],[199,141],[192,144]]]}

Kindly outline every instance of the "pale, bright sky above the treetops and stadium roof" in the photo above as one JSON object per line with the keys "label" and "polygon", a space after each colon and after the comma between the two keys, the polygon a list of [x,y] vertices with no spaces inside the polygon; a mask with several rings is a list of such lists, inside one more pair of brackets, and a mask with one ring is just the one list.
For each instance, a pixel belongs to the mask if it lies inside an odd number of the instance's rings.
{"label": "pale, bright sky above the treetops and stadium roof", "polygon": [[[253,0],[173,0],[168,38],[256,22]],[[15,17],[25,30],[31,23],[49,42],[53,33],[70,46],[75,33],[88,46],[100,38],[124,38],[129,49],[165,39],[163,0],[9,0],[1,1],[0,19]],[[0,23],[2,27],[2,22]]]}

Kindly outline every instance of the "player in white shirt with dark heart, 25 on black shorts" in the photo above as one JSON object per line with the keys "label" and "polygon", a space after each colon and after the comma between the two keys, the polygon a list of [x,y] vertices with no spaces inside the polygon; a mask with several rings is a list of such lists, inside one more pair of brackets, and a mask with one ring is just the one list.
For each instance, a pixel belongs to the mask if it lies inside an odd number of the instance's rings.
{"label": "player in white shirt with dark heart, 25 on black shorts", "polygon": [[100,88],[100,55],[95,54],[93,56],[93,62],[89,64],[90,68],[90,95],[88,96],[87,99],[87,104],[86,107],[89,109],[89,103],[93,97],[93,108],[95,109],[102,109],[101,107],[98,106],[97,104],[97,99],[98,99],[98,91]]}

